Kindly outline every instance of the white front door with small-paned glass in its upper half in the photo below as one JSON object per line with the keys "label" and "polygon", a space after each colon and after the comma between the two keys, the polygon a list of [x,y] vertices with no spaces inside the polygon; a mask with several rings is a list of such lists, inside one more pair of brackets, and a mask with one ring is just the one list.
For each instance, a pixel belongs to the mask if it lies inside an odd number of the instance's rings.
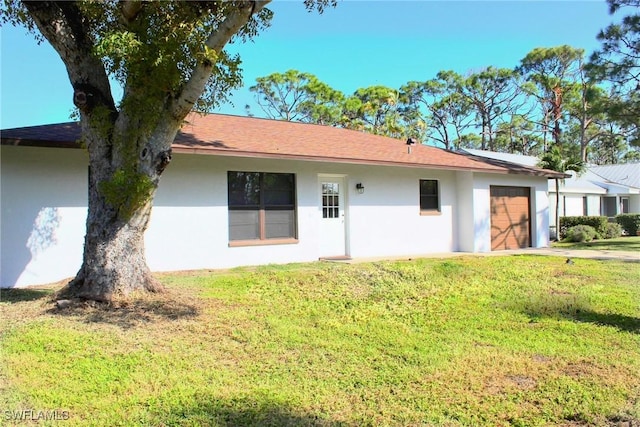
{"label": "white front door with small-paned glass in its upper half", "polygon": [[342,177],[320,177],[320,256],[346,255],[345,194]]}

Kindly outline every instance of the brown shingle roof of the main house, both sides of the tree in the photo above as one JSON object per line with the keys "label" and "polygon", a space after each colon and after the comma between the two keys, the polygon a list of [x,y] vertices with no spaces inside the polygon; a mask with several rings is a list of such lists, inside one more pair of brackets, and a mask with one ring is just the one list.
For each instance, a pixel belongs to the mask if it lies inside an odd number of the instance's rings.
{"label": "brown shingle roof of the main house, both sides of the tree", "polygon": [[[77,123],[7,129],[3,145],[79,147]],[[488,161],[426,145],[368,133],[278,120],[221,114],[190,114],[173,143],[178,153],[395,165],[563,177],[557,172]]]}

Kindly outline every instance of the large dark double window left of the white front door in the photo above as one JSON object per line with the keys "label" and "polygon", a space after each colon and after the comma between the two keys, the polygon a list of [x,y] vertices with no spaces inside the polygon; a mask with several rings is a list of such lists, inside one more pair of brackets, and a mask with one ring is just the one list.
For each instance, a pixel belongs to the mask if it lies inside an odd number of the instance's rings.
{"label": "large dark double window left of the white front door", "polygon": [[[253,175],[257,177],[257,188],[254,188],[255,194],[252,195],[246,192],[238,193],[238,189],[234,189],[233,181],[235,178],[240,176],[249,176]],[[275,176],[276,184],[278,181],[283,178],[291,181],[291,185],[288,187],[271,187],[269,188],[269,184],[267,183],[268,176]],[[254,178],[255,179],[255,178]],[[250,185],[250,184],[247,184]],[[246,187],[246,185],[245,185]],[[250,189],[251,190],[251,189]],[[288,198],[290,203],[278,202],[277,196],[272,198],[271,201],[267,200],[269,196],[274,196],[276,193],[285,193],[285,199]],[[235,194],[234,194],[235,193]],[[289,193],[289,194],[286,194]],[[238,195],[242,196],[242,199],[245,203],[233,203],[232,200],[238,200]],[[257,203],[250,203],[252,198],[255,198],[257,195]],[[234,197],[236,196],[236,197]],[[286,244],[286,243],[297,243],[298,238],[298,209],[297,209],[297,199],[296,199],[296,175],[293,173],[286,172],[247,172],[247,171],[228,171],[227,172],[227,210],[229,212],[229,246],[245,246],[245,245],[269,245],[269,244]],[[232,224],[231,224],[231,213],[239,212],[239,211],[252,211],[257,212],[257,229],[258,235],[256,238],[250,239],[241,239],[241,238],[233,238],[232,237]],[[287,211],[291,212],[292,219],[289,226],[291,227],[292,233],[290,236],[278,236],[278,237],[268,237],[268,221],[267,216],[269,211]]]}

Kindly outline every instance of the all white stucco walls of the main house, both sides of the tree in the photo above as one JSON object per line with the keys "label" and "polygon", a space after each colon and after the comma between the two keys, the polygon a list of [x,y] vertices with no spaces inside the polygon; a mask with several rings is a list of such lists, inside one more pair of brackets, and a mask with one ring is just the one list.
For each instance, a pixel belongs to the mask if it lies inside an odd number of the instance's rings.
{"label": "all white stucco walls of the main house, both sides of the tree", "polygon": [[[2,146],[0,285],[27,286],[75,275],[82,260],[87,157],[82,150]],[[227,171],[296,174],[298,243],[229,247]],[[546,180],[402,167],[175,154],[145,235],[153,271],[317,260],[318,177],[342,176],[346,247],[352,257],[490,251],[489,186],[532,191],[534,246],[548,245]],[[441,212],[420,215],[419,180],[439,182]],[[363,183],[365,192],[355,191]]]}

